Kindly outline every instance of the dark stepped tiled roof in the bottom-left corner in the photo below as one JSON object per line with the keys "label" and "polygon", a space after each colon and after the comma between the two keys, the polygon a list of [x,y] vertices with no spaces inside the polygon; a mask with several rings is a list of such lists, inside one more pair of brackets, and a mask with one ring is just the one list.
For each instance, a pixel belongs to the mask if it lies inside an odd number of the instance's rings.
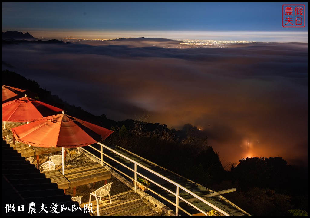
{"label": "dark stepped tiled roof in the bottom-left corner", "polygon": [[[69,195],[64,194],[63,189],[58,189],[55,183],[51,183],[50,179],[47,179],[39,169],[26,161],[25,157],[4,140],[2,141],[2,199],[2,205],[15,205],[15,211],[8,210],[7,213],[3,206],[2,215],[5,216],[29,216],[28,206],[31,204],[37,205],[37,214],[33,214],[34,216],[53,215],[56,213],[48,208],[55,205],[55,202],[59,203],[59,207],[55,209],[60,212],[58,214],[60,216],[90,216],[89,213],[80,210],[68,210],[73,205],[78,206],[78,203],[73,202]],[[21,205],[25,206],[25,210],[17,210],[23,207]],[[38,205],[44,205],[48,213],[38,213],[40,212]],[[61,210],[62,208],[67,209]]]}

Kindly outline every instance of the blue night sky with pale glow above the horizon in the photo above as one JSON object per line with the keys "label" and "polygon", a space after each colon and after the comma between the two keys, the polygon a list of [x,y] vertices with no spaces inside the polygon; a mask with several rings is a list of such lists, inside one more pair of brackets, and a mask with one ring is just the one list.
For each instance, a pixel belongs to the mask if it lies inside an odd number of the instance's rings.
{"label": "blue night sky with pale glow above the horizon", "polygon": [[[304,28],[282,27],[282,6],[306,6]],[[2,31],[43,38],[308,42],[308,3],[2,2]]]}

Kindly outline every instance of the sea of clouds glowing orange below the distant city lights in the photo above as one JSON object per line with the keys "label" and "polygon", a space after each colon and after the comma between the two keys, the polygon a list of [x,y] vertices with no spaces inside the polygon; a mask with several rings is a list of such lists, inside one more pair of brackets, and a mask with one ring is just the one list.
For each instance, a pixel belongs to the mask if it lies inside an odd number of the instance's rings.
{"label": "sea of clouds glowing orange below the distant city lights", "polygon": [[[182,48],[180,48],[182,47]],[[9,69],[63,100],[116,121],[209,137],[222,162],[282,157],[308,162],[308,44],[197,47],[159,39],[2,47]]]}

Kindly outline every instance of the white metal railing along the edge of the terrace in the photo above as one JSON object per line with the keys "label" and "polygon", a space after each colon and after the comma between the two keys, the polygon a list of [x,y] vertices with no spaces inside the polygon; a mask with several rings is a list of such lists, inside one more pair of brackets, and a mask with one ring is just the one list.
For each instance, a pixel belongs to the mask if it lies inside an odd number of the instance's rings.
{"label": "white metal railing along the edge of the terrace", "polygon": [[[166,190],[166,191],[169,192],[170,194],[175,195],[175,197],[176,197],[176,203],[171,202],[169,199],[166,199],[165,197],[163,197],[163,196],[161,196],[160,194],[156,193],[156,192],[153,191],[152,189],[148,188],[149,191],[153,192],[153,193],[156,194],[157,196],[159,196],[159,197],[165,199],[166,201],[168,201],[168,202],[170,202],[172,205],[174,205],[174,206],[175,206],[175,213],[176,213],[176,216],[179,215],[179,209],[182,210],[182,211],[184,211],[184,212],[185,212],[186,214],[188,214],[188,215],[192,215],[192,214],[190,214],[189,212],[185,211],[183,208],[181,208],[181,207],[179,206],[179,199],[181,199],[181,200],[183,200],[184,202],[188,203],[189,205],[191,205],[192,207],[194,207],[195,209],[197,209],[197,210],[200,211],[201,213],[207,215],[205,211],[202,211],[200,208],[196,207],[196,206],[193,205],[191,202],[189,202],[189,201],[187,201],[186,199],[184,199],[184,198],[182,198],[181,196],[179,196],[179,191],[180,191],[180,189],[182,189],[182,190],[184,190],[185,192],[187,192],[187,193],[193,195],[195,198],[201,200],[201,202],[204,202],[205,204],[209,205],[210,207],[214,208],[215,210],[219,211],[220,213],[224,214],[225,216],[229,216],[229,214],[228,214],[227,212],[225,212],[225,211],[223,211],[222,209],[216,207],[215,205],[213,205],[213,204],[211,204],[210,202],[206,201],[205,199],[201,198],[200,196],[198,196],[197,194],[193,193],[192,191],[190,191],[190,190],[184,188],[183,186],[179,185],[178,183],[176,183],[176,182],[174,182],[174,181],[172,181],[172,180],[166,178],[165,176],[162,176],[161,174],[159,174],[159,173],[157,173],[157,172],[155,172],[155,171],[149,169],[148,167],[145,167],[144,165],[140,164],[139,162],[136,162],[136,161],[132,160],[131,158],[126,157],[125,155],[123,155],[123,154],[121,154],[121,153],[119,153],[119,152],[117,152],[117,151],[115,151],[115,150],[109,148],[108,146],[106,146],[106,145],[104,145],[104,144],[102,144],[102,143],[100,143],[100,142],[98,142],[97,144],[100,145],[100,150],[96,149],[95,147],[93,147],[93,146],[91,146],[91,145],[89,145],[89,147],[91,147],[92,149],[98,151],[98,152],[101,154],[101,165],[102,165],[102,166],[103,166],[103,163],[105,163],[105,164],[107,164],[108,166],[114,168],[113,166],[111,166],[111,165],[109,165],[108,163],[106,163],[106,162],[103,161],[103,155],[105,155],[106,157],[112,159],[113,161],[115,161],[115,162],[121,164],[123,167],[126,167],[126,168],[129,169],[130,171],[134,172],[134,175],[135,175],[135,177],[134,177],[134,179],[133,179],[134,182],[135,182],[134,184],[137,184],[137,183],[138,183],[138,184],[142,185],[141,183],[139,183],[139,182],[137,181],[137,175],[139,175],[139,176],[141,176],[141,177],[147,179],[148,181],[152,182],[153,184],[159,186],[160,188]],[[107,154],[103,153],[103,147],[104,147],[105,149],[110,150],[110,151],[113,152],[113,153],[116,153],[117,155],[121,156],[122,158],[125,158],[126,160],[128,160],[128,161],[134,163],[134,169],[132,169],[131,167],[126,166],[126,165],[123,164],[122,162],[117,161],[117,160],[114,159],[113,157],[110,157],[110,156],[108,156]],[[98,160],[100,160],[100,159],[99,159],[98,157],[96,157],[96,156],[95,156],[95,158],[97,158]],[[169,189],[166,189],[165,187],[163,187],[162,185],[160,185],[160,184],[158,184],[157,182],[153,181],[152,179],[148,178],[147,176],[144,176],[143,174],[137,172],[137,166],[142,167],[143,169],[145,169],[145,170],[151,172],[152,174],[154,174],[154,175],[156,175],[156,176],[158,176],[158,177],[160,177],[160,178],[162,178],[162,179],[164,179],[164,180],[170,182],[171,184],[174,184],[174,185],[176,186],[176,190],[175,190],[176,193],[170,191]],[[118,169],[117,169],[117,170],[118,170]],[[119,170],[118,170],[118,171],[119,171]],[[123,175],[127,176],[128,178],[131,178],[131,179],[132,179],[131,176],[126,175],[126,174],[123,173],[123,172],[121,172],[121,173],[122,173]],[[137,190],[137,186],[135,185],[135,192],[136,192],[136,190]]]}

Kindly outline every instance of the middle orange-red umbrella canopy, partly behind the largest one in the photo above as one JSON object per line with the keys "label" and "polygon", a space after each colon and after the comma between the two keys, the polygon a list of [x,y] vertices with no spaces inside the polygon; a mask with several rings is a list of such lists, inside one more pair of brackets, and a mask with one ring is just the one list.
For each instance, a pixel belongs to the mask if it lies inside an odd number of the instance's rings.
{"label": "middle orange-red umbrella canopy, partly behind the largest one", "polygon": [[36,99],[18,98],[2,104],[2,121],[33,122],[37,119],[60,113],[63,109],[56,108]]}

